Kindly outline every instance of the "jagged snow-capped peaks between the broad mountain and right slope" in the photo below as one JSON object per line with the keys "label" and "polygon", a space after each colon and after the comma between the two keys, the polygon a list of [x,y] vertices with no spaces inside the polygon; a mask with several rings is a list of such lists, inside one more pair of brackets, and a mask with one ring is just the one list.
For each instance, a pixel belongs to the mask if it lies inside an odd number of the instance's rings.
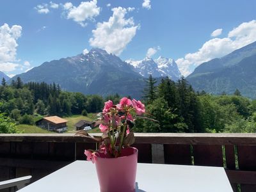
{"label": "jagged snow-capped peaks between the broad mountain and right slope", "polygon": [[159,56],[156,60],[146,57],[143,60],[126,60],[125,62],[132,65],[135,72],[143,77],[152,74],[153,77],[170,77],[173,81],[180,79],[181,74],[177,63],[171,58]]}

